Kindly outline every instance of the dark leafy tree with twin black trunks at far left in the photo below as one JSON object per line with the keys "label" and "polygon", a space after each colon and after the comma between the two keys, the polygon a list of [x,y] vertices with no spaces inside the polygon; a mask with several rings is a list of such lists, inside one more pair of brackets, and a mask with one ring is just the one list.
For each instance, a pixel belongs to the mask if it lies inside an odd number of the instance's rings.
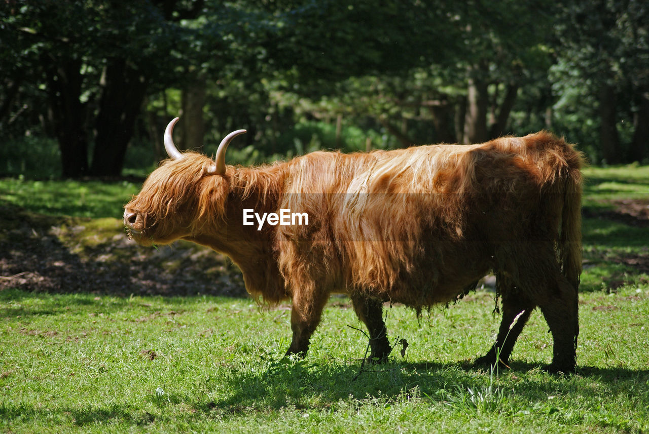
{"label": "dark leafy tree with twin black trunks at far left", "polygon": [[120,174],[149,84],[170,82],[175,68],[160,65],[184,60],[182,51],[173,49],[182,50],[191,35],[178,21],[197,14],[202,1],[183,9],[185,5],[163,0],[32,2],[4,18],[18,35],[21,69],[42,71],[63,176]]}

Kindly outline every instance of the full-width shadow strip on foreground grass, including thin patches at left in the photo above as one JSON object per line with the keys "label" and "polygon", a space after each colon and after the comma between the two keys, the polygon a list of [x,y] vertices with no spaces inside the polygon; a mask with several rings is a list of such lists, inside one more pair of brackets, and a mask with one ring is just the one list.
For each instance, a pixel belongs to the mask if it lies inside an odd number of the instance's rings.
{"label": "full-width shadow strip on foreground grass, including thin patches at left", "polygon": [[[523,408],[546,402],[548,396],[579,396],[593,391],[583,391],[582,377],[596,377],[607,399],[630,396],[637,405],[649,405],[649,370],[581,367],[574,376],[539,374],[541,365],[513,362],[511,369],[500,372],[500,378],[483,367],[472,367],[467,361],[456,363],[398,361],[373,365],[360,370],[361,363],[353,361],[317,362],[278,360],[262,371],[238,374],[219,384],[227,390],[222,399],[165,394],[163,398],[150,398],[152,404],[164,409],[169,404],[190,405],[191,413],[201,418],[222,418],[249,413],[253,409],[275,411],[287,409],[328,409],[336,411],[339,405],[357,407],[373,402],[391,403],[419,396],[430,402],[448,402],[462,391],[485,391],[485,385],[506,389],[508,400],[516,400]],[[528,374],[530,373],[530,374]],[[589,382],[590,383],[590,382]],[[121,420],[127,424],[146,426],[156,419],[150,409],[134,411],[129,405],[71,406],[62,409],[73,417],[77,426],[104,424]],[[6,420],[36,420],[51,414],[48,407],[25,405],[0,407],[0,417]]]}

